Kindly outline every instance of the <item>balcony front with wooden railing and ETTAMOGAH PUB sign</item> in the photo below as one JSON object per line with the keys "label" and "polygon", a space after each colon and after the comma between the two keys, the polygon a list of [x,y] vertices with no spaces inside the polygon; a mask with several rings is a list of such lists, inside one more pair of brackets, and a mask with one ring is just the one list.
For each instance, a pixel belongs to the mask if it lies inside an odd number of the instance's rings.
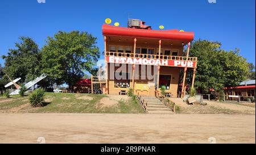
{"label": "balcony front with wooden railing and ETTAMOGAH PUB sign", "polygon": [[[110,58],[112,57],[112,58]],[[196,68],[197,57],[105,52],[106,62]]]}

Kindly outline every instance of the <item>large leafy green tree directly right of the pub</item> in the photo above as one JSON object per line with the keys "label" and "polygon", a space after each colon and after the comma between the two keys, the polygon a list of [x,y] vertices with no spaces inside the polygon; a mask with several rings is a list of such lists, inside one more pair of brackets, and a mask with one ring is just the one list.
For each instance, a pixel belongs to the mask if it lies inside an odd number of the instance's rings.
{"label": "large leafy green tree directly right of the pub", "polygon": [[[236,51],[224,51],[221,43],[197,40],[191,44],[190,56],[197,57],[195,86],[201,90],[221,90],[224,87],[237,86],[247,78],[249,65]],[[192,79],[192,70],[188,79]],[[191,85],[191,81],[188,81]]]}

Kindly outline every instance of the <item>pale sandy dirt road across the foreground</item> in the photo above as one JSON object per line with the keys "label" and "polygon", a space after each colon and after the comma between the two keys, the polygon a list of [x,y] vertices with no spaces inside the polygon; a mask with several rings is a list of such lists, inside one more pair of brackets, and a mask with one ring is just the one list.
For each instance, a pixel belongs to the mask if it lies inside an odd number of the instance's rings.
{"label": "pale sandy dirt road across the foreground", "polygon": [[255,143],[255,115],[0,114],[0,143]]}

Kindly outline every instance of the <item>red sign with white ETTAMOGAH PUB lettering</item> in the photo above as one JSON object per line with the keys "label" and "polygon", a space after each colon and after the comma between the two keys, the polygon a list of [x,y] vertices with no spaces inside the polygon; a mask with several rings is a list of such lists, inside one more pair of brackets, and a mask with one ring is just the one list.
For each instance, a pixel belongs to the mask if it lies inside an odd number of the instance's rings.
{"label": "red sign with white ETTAMOGAH PUB lettering", "polygon": [[138,65],[159,65],[159,66],[179,66],[187,68],[195,68],[196,62],[182,60],[159,60],[151,58],[131,58],[131,57],[115,57],[106,56],[106,62],[117,64],[138,64]]}

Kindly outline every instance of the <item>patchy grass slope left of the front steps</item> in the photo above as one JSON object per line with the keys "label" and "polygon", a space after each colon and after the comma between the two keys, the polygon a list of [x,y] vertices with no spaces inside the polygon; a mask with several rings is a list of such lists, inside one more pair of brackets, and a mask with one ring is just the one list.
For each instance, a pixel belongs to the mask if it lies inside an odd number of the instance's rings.
{"label": "patchy grass slope left of the front steps", "polygon": [[[1,99],[0,110],[8,112],[11,108],[29,103],[29,95],[25,97],[11,97]],[[98,94],[76,94],[76,93],[45,93],[43,107],[22,108],[23,111],[31,113],[143,113],[142,107],[135,98],[119,100],[113,106],[100,106],[102,98],[109,98],[107,95]],[[17,111],[20,112],[20,111]]]}

